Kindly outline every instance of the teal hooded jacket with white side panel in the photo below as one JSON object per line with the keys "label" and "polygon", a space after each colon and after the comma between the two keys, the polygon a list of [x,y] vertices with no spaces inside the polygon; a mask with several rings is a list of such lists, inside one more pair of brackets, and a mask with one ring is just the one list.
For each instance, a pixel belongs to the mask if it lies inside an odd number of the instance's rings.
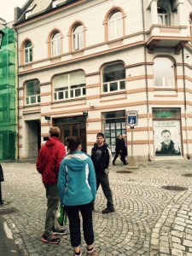
{"label": "teal hooded jacket with white side panel", "polygon": [[58,191],[65,206],[79,206],[96,200],[96,173],[88,154],[75,151],[61,161]]}

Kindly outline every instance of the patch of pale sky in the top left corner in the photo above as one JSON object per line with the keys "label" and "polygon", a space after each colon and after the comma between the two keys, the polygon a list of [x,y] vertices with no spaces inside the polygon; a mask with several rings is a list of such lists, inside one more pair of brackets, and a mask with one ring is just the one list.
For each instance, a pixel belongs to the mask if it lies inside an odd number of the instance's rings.
{"label": "patch of pale sky in the top left corner", "polygon": [[5,20],[7,23],[13,21],[15,7],[22,7],[26,1],[27,0],[0,0],[0,18]]}

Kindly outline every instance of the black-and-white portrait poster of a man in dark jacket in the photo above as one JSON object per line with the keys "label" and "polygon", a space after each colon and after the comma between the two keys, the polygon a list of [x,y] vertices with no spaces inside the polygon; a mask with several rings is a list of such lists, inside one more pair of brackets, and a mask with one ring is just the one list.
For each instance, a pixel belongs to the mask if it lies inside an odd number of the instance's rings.
{"label": "black-and-white portrait poster of a man in dark jacket", "polygon": [[180,121],[154,121],[155,156],[181,155],[181,150]]}

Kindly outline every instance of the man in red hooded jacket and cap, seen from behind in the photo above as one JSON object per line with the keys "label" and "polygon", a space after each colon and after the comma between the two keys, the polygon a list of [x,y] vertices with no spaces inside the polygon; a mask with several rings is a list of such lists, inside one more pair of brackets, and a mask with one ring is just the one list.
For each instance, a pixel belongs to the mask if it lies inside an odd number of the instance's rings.
{"label": "man in red hooded jacket and cap, seen from behind", "polygon": [[62,158],[66,155],[66,148],[60,141],[60,129],[52,127],[49,130],[49,139],[40,149],[37,160],[37,170],[42,175],[47,197],[47,212],[45,230],[41,241],[57,244],[61,241],[55,234],[67,235],[67,230],[61,230],[56,212],[59,206],[57,179]]}

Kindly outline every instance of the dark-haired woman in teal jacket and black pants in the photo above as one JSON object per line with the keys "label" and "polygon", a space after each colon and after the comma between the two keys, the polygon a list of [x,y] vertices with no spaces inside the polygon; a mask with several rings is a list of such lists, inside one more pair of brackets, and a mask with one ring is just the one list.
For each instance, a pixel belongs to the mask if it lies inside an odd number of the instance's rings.
{"label": "dark-haired woman in teal jacket and black pants", "polygon": [[79,137],[67,137],[67,150],[69,154],[61,161],[58,190],[69,219],[73,256],[82,255],[79,212],[83,218],[87,256],[97,256],[92,220],[92,201],[96,200],[95,169],[90,156],[80,151]]}

